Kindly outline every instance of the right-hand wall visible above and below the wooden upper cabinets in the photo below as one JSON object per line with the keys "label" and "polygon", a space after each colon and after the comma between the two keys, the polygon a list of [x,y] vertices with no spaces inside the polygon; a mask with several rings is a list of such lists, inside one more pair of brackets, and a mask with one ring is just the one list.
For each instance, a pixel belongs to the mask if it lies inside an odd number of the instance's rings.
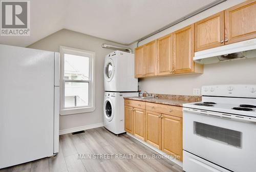
{"label": "right-hand wall visible above and below the wooden upper cabinets", "polygon": [[[207,11],[204,11],[194,17],[184,20],[182,23],[168,28],[150,38],[140,42],[140,45],[146,44],[154,39],[172,33],[185,26],[193,24],[198,20],[208,17],[212,14],[218,13],[233,5],[239,4],[241,0],[228,0],[218,6],[215,6]],[[137,42],[131,45],[131,48],[136,48]],[[226,61],[212,65],[204,66],[203,74],[193,75],[179,75],[145,78],[139,80],[139,88],[149,93],[159,94],[179,94],[179,95],[193,95],[194,88],[201,88],[202,85],[208,84],[256,84],[256,58]]]}

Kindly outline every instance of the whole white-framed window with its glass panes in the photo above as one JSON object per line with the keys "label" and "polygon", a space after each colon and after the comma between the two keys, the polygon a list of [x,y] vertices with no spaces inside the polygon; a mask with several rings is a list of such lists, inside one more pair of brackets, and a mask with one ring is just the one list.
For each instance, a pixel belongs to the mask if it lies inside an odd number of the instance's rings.
{"label": "whole white-framed window with its glass panes", "polygon": [[60,115],[95,110],[95,53],[60,46]]}

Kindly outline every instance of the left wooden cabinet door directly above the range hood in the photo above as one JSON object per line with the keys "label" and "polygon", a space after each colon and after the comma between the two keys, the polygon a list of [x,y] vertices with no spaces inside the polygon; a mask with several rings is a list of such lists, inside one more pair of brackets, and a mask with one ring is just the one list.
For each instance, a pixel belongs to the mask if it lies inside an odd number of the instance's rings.
{"label": "left wooden cabinet door directly above the range hood", "polygon": [[224,11],[195,23],[195,51],[224,45]]}

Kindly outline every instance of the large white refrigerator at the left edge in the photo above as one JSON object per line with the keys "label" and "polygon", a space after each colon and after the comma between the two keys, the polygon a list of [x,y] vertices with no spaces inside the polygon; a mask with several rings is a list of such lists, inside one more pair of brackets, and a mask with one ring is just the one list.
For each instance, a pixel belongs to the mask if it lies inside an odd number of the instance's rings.
{"label": "large white refrigerator at the left edge", "polygon": [[0,45],[0,169],[58,153],[59,53]]}

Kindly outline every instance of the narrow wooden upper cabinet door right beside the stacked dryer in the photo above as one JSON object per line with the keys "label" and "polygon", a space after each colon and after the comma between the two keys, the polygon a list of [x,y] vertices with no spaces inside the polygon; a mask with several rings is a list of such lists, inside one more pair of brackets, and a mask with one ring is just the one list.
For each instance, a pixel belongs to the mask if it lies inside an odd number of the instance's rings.
{"label": "narrow wooden upper cabinet door right beside the stacked dryer", "polygon": [[145,75],[145,59],[144,59],[144,46],[135,49],[135,77],[143,77]]}

